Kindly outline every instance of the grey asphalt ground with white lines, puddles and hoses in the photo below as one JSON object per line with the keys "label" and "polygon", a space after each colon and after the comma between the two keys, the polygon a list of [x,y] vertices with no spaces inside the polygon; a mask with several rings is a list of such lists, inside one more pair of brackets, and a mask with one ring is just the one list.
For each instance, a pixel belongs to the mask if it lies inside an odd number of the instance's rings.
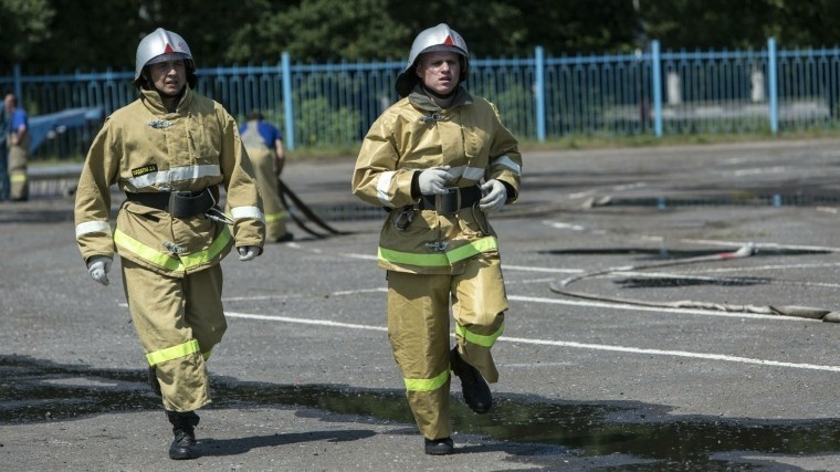
{"label": "grey asphalt ground with white lines, puddles and hoses", "polygon": [[99,286],[76,250],[73,168],[34,171],[30,201],[0,202],[0,470],[840,470],[840,141],[524,160],[492,219],[496,401],[475,416],[453,382],[455,454],[422,452],[385,332],[382,213],[349,195],[347,157],[284,171],[345,234],[290,222],[293,242],[223,261],[214,401],[177,464],[118,270]]}

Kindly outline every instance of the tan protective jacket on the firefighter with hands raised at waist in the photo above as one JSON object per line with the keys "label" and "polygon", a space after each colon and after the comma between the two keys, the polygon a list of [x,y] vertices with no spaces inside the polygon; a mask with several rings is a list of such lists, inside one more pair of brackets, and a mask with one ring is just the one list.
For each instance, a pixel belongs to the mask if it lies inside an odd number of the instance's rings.
{"label": "tan protective jacket on the firefighter with hands raised at waist", "polygon": [[379,239],[379,266],[416,274],[458,274],[463,261],[496,252],[495,232],[477,203],[454,214],[421,209],[414,174],[451,166],[455,186],[497,179],[518,197],[522,156],[496,107],[459,87],[450,107],[434,104],[419,85],[372,124],[359,151],[353,192],[389,210]]}

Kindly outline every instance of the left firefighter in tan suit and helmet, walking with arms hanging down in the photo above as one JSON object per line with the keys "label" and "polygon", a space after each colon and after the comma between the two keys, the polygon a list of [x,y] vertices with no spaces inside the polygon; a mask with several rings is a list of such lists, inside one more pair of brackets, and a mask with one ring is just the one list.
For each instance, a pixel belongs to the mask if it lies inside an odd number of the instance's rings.
{"label": "left firefighter in tan suit and helmet, walking with arms hanging down", "polygon": [[[111,115],[78,181],[76,240],[91,276],[107,285],[120,256],[125,296],[146,353],[149,381],[172,426],[172,459],[197,457],[195,410],[210,402],[207,359],[225,332],[222,270],[262,252],[265,227],[237,123],[197,94],[183,39],[164,29],[137,48],[140,97]],[[126,200],[109,222],[111,190]],[[232,220],[216,206],[227,191]]]}

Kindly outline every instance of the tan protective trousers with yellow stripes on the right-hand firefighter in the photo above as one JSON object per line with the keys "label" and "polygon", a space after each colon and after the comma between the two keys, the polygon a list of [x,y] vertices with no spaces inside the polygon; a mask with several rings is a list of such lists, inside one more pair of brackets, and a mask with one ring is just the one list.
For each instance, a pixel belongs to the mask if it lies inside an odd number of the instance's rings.
{"label": "tan protective trousers with yellow stripes on the right-hand firefighter", "polygon": [[489,381],[498,380],[491,347],[507,310],[498,255],[479,255],[462,274],[388,272],[388,339],[406,381],[406,396],[427,439],[452,434],[449,304],[461,357]]}

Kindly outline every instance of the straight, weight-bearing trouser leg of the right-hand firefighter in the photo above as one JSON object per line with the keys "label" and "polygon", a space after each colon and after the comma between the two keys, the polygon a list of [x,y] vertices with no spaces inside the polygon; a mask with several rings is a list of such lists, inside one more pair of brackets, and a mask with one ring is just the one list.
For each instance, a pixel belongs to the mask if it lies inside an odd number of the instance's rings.
{"label": "straight, weight-bearing trouser leg of the right-hand firefighter", "polygon": [[420,433],[452,436],[449,412],[450,275],[388,272],[388,339]]}

